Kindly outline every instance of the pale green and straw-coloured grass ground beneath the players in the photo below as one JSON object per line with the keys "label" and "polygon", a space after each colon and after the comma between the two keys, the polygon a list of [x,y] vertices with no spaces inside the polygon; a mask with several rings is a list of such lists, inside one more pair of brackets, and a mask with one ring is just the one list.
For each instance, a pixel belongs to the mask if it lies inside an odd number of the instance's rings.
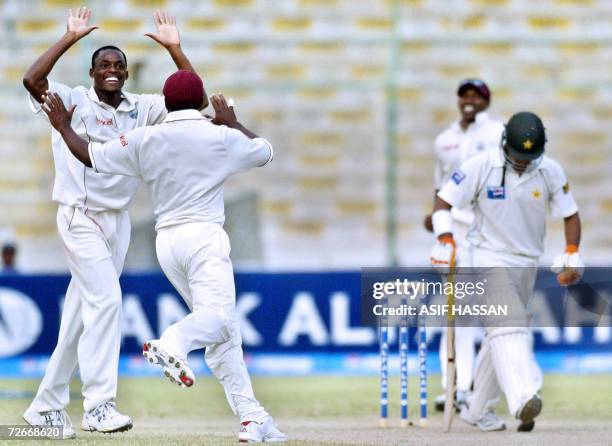
{"label": "pale green and straw-coloured grass ground beneath the players", "polygon": [[[0,392],[34,392],[38,381],[1,380]],[[416,414],[416,379],[410,382],[410,410]],[[610,444],[612,440],[612,376],[547,375],[542,392],[544,411],[532,433],[515,432],[502,400],[498,413],[508,422],[505,432],[482,433],[458,417],[450,434],[442,433],[441,416],[433,412],[427,427],[399,427],[399,379],[390,383],[391,427],[378,428],[376,377],[255,378],[257,397],[274,416],[290,444]],[[430,377],[429,398],[440,393],[439,376]],[[78,382],[72,389],[78,395]],[[30,396],[3,399],[0,424],[23,424],[21,414]],[[134,429],[120,434],[93,434],[79,428],[81,400],[74,399],[69,414],[77,428],[71,444],[167,445],[235,444],[238,421],[231,413],[221,386],[202,377],[191,389],[164,379],[121,379],[119,409],[134,420]],[[1,442],[1,441],[0,441]],[[25,444],[19,442],[11,444]],[[44,443],[32,441],[32,444]]]}

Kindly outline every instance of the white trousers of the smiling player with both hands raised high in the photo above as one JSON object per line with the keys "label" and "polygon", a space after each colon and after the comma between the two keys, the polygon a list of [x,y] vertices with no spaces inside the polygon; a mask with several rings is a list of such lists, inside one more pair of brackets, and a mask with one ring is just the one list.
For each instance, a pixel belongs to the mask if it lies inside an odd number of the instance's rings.
{"label": "white trousers of the smiling player with both hands raised high", "polygon": [[60,205],[57,227],[72,277],[57,346],[31,407],[39,412],[65,408],[78,364],[83,407],[90,411],[117,395],[119,275],[130,242],[130,219],[127,211],[86,212]]}

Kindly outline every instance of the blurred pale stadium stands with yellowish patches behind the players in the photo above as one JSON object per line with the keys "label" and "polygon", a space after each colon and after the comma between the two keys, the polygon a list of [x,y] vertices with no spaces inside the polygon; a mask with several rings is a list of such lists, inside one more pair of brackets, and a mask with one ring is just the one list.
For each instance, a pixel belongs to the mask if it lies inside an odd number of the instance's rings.
{"label": "blurred pale stadium stands with yellowish patches behind the players", "polygon": [[[549,152],[565,167],[581,207],[585,258],[609,262],[611,2],[89,3],[101,28],[61,59],[54,79],[89,85],[91,52],[112,43],[127,53],[126,88],[158,92],[173,64],[142,34],[153,30],[151,12],[166,8],[177,16],[185,52],[209,94],[234,97],[240,119],[274,144],[270,166],[227,186],[230,206],[246,193],[259,197],[261,233],[254,236],[262,241],[261,267],[386,264],[390,141],[397,150],[396,250],[403,264],[426,263],[433,239],[421,221],[431,207],[432,145],[457,115],[455,88],[466,76],[489,82],[494,116],[505,120],[530,109],[544,118]],[[2,5],[0,228],[11,228],[21,242],[25,270],[60,270],[49,129],[31,115],[21,76],[62,34],[75,2],[28,4]],[[394,107],[395,127],[388,125]],[[139,195],[133,208],[139,225],[152,221],[146,199]],[[562,226],[551,223],[545,260],[563,246]]]}

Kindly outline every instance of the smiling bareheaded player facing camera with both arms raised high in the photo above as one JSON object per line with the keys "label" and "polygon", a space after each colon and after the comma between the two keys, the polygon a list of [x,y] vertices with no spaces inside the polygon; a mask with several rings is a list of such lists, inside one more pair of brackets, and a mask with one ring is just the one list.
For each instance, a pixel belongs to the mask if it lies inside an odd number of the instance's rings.
{"label": "smiling bareheaded player facing camera with both arms raised high", "polygon": [[[69,13],[67,31],[26,72],[23,83],[30,103],[40,113],[43,94],[57,93],[76,106],[73,126],[91,142],[103,143],[137,127],[161,122],[166,108],[161,95],[135,95],[123,91],[128,79],[125,54],[104,46],[92,55],[89,75],[93,86],[69,87],[48,80],[55,63],[71,46],[97,28],[88,25],[90,11]],[[156,33],[147,36],[165,47],[178,68],[193,70],[181,50],[173,17],[157,11]],[[36,397],[24,414],[32,425],[62,425],[63,437],[75,436],[66,414],[69,384],[77,366],[83,382],[84,430],[115,432],[132,427],[119,413],[117,369],[121,344],[121,288],[119,275],[130,240],[127,208],[139,180],[86,169],[52,129],[55,182],[53,200],[59,203],[57,225],[71,281],[66,291],[57,346]]]}

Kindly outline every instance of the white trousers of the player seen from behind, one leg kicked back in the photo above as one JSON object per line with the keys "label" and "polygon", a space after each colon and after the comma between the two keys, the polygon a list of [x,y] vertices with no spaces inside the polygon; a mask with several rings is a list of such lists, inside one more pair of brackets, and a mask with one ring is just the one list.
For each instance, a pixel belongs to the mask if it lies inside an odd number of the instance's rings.
{"label": "white trousers of the player seen from behind, one leg kicked back", "polygon": [[240,421],[265,421],[269,415],[255,399],[243,359],[230,244],[223,227],[186,223],[161,228],[156,245],[164,274],[191,310],[164,331],[162,345],[183,358],[206,348],[206,364]]}

